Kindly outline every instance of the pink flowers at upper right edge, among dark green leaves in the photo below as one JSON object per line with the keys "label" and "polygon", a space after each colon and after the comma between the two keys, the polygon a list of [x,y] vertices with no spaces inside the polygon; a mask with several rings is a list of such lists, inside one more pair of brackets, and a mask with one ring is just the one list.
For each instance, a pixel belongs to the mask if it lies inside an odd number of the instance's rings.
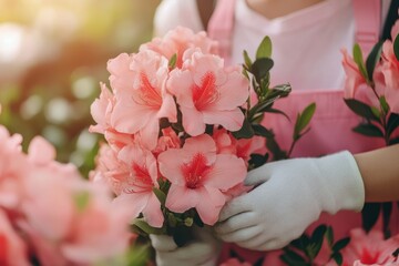
{"label": "pink flowers at upper right edge, among dark green leaves", "polygon": [[[399,20],[391,30],[392,40],[399,34]],[[382,44],[381,60],[377,63],[372,76],[375,92],[367,84],[366,78],[361,74],[357,63],[342,51],[342,65],[346,73],[345,98],[359,99],[366,103],[379,106],[378,96],[385,96],[392,113],[399,113],[399,60],[393,53],[393,43],[390,40]]]}

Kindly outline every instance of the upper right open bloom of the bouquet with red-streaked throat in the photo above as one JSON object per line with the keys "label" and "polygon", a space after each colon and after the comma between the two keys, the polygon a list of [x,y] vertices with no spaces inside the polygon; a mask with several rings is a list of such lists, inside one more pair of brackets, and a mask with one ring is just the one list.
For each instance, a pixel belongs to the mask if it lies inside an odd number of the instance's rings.
{"label": "upper right open bloom of the bouquet with red-streaked throat", "polygon": [[190,135],[201,135],[206,124],[237,131],[244,122],[238,106],[248,99],[248,81],[238,68],[225,69],[223,60],[188,50],[183,68],[171,72],[167,89],[175,96]]}

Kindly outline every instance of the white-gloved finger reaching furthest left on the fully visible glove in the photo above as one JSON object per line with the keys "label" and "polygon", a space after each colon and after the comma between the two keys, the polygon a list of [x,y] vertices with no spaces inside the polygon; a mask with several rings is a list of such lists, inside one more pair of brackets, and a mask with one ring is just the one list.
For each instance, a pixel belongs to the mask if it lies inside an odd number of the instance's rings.
{"label": "white-gloved finger reaching furthest left on the fully visible glove", "polygon": [[235,216],[229,217],[228,219],[217,223],[214,226],[216,234],[225,235],[228,233],[233,233],[234,231],[249,227],[256,225],[258,223],[258,218],[256,213],[254,212],[246,212],[241,213]]}

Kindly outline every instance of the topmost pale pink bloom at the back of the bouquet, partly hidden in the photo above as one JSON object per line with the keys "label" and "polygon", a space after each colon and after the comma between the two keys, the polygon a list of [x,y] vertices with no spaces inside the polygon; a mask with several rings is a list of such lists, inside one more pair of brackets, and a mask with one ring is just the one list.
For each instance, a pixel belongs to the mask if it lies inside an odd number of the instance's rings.
{"label": "topmost pale pink bloom at the back of the bouquet, partly hidden", "polygon": [[163,38],[154,38],[151,42],[142,44],[140,51],[152,50],[167,59],[176,54],[176,68],[182,68],[183,54],[191,48],[197,48],[203,53],[215,53],[217,42],[209,39],[205,31],[194,33],[191,29],[176,27]]}

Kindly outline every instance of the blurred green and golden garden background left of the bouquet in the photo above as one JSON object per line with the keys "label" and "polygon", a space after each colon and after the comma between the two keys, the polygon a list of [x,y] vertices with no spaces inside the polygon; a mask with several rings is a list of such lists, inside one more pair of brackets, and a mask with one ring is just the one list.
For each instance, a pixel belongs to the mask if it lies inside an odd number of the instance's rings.
{"label": "blurred green and golden garden background left of the bouquet", "polygon": [[0,124],[49,140],[58,161],[93,168],[90,105],[106,62],[152,38],[160,0],[0,0]]}

